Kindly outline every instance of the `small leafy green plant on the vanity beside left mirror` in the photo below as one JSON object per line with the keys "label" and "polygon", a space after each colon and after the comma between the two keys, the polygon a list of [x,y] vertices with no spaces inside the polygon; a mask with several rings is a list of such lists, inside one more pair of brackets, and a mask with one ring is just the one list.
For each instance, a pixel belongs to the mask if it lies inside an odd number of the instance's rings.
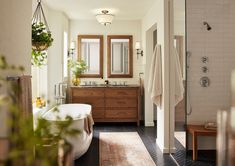
{"label": "small leafy green plant on the vanity beside left mirror", "polygon": [[78,78],[86,69],[87,65],[83,60],[71,60],[68,61],[68,67],[71,69],[73,75]]}

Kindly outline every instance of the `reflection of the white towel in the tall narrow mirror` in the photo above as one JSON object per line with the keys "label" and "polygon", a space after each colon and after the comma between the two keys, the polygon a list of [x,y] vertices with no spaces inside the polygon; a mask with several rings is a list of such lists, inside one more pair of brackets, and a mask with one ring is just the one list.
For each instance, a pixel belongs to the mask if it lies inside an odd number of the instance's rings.
{"label": "reflection of the white towel in the tall narrow mirror", "polygon": [[180,67],[179,54],[174,47],[175,57],[175,106],[184,98],[183,76]]}

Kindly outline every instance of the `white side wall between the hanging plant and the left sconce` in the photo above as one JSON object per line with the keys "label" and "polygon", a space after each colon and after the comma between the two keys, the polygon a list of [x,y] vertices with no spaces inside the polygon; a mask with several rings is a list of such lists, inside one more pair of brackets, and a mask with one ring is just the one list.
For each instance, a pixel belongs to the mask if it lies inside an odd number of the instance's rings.
{"label": "white side wall between the hanging plant and the left sconce", "polygon": [[54,85],[63,81],[63,53],[66,31],[69,33],[68,17],[62,12],[49,10],[49,26],[53,35],[53,44],[48,49],[48,99],[54,102]]}

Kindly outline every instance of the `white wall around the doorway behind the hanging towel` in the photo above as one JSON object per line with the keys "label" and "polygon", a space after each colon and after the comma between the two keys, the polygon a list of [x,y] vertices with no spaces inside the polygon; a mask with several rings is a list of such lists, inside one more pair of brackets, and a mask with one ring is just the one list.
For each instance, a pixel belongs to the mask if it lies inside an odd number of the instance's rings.
{"label": "white wall around the doorway behind the hanging towel", "polygon": [[[162,46],[164,54],[164,4],[157,0],[145,17],[142,19],[142,41],[145,64],[145,125],[153,126],[153,103],[150,99],[150,93],[147,91],[150,64],[153,54],[152,31],[157,28],[157,42]],[[156,110],[155,110],[156,111]]]}

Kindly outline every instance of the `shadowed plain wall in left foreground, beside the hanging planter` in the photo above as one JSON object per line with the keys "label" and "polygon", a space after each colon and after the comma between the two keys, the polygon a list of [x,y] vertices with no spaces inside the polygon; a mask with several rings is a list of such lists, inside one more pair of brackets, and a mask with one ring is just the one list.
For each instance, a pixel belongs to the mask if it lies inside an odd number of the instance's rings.
{"label": "shadowed plain wall in left foreground, beside the hanging planter", "polygon": [[[6,56],[9,64],[24,66],[27,75],[31,74],[31,6],[31,0],[1,0],[0,5],[0,54]],[[0,137],[6,137],[6,116],[0,110]]]}

